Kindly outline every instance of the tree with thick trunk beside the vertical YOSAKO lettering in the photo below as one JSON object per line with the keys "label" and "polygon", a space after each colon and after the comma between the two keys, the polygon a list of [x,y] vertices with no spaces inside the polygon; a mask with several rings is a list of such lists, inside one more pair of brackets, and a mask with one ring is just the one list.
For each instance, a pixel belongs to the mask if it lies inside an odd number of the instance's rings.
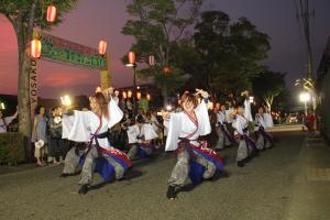
{"label": "tree with thick trunk beside the vertical YOSAKO lettering", "polygon": [[[19,130],[30,141],[31,136],[31,113],[30,113],[30,68],[31,58],[26,55],[26,45],[32,40],[33,29],[40,26],[50,29],[54,24],[62,22],[62,15],[72,10],[77,0],[56,0],[57,8],[56,22],[46,22],[46,9],[51,0],[1,0],[0,13],[3,13],[13,25],[18,37],[19,47]],[[30,145],[30,144],[29,144]]]}

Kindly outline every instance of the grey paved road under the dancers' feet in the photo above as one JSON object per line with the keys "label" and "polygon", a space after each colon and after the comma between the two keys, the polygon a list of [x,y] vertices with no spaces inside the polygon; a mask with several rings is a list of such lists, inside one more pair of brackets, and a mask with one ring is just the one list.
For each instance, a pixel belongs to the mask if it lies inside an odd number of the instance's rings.
{"label": "grey paved road under the dancers' feet", "polygon": [[237,146],[222,151],[230,177],[186,188],[175,201],[165,197],[173,155],[140,162],[135,178],[85,196],[76,193],[79,176],[58,177],[62,166],[0,175],[0,219],[287,219],[304,134],[274,135],[276,146],[243,168],[234,162]]}

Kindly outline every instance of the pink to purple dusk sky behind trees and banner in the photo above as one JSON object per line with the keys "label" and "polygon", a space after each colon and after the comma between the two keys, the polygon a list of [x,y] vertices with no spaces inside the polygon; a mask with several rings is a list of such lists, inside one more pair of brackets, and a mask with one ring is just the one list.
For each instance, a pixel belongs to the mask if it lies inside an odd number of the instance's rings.
{"label": "pink to purple dusk sky behind trees and banner", "polygon": [[[130,0],[79,0],[77,8],[65,14],[64,22],[50,33],[73,42],[97,47],[103,38],[111,56],[113,87],[132,85],[132,70],[120,61],[133,37],[121,34],[129,19]],[[311,19],[311,38],[317,67],[330,35],[330,1],[311,0],[316,16]],[[305,76],[306,47],[299,32],[294,0],[208,0],[204,9],[222,10],[232,20],[246,16],[272,40],[265,64],[272,70],[286,72],[287,85]],[[11,24],[0,14],[0,94],[16,94],[18,48]],[[99,85],[99,73],[41,61],[37,64],[38,96],[57,98],[63,94],[91,94]]]}

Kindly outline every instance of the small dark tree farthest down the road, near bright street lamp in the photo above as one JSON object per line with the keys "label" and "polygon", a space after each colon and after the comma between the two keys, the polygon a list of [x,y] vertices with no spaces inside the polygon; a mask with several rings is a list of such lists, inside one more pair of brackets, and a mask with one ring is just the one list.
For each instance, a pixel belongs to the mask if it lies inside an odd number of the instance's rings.
{"label": "small dark tree farthest down the road, near bright street lamp", "polygon": [[274,99],[282,92],[285,92],[286,74],[264,69],[256,78],[252,80],[253,92],[265,101],[270,110]]}

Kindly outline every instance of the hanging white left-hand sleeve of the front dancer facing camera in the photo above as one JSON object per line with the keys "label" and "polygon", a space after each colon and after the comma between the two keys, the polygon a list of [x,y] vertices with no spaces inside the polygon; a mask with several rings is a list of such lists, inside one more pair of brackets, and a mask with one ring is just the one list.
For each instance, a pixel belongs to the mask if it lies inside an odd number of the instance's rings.
{"label": "hanging white left-hand sleeve of the front dancer facing camera", "polygon": [[177,141],[180,134],[180,127],[182,127],[180,113],[170,113],[170,118],[167,127],[168,133],[166,139],[165,151],[177,150]]}

